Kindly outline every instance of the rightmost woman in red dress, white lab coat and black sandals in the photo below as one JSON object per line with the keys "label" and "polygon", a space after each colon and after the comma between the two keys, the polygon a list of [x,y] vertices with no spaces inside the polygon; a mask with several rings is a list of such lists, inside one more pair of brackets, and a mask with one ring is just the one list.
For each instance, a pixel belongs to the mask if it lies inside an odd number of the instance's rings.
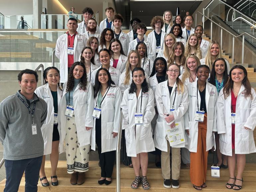
{"label": "rightmost woman in red dress, white lab coat and black sandals", "polygon": [[253,138],[256,126],[256,93],[242,65],[231,68],[229,79],[219,93],[217,115],[220,152],[228,155],[230,178],[226,187],[240,190],[246,162],[245,154],[256,152]]}

